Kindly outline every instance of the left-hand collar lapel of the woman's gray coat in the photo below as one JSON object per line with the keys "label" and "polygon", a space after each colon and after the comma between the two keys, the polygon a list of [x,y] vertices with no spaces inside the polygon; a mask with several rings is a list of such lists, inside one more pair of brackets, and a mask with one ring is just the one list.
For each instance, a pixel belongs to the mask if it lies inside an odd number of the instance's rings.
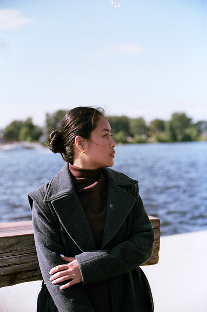
{"label": "left-hand collar lapel of the woman's gray coat", "polygon": [[89,221],[75,192],[67,164],[51,180],[44,202],[51,202],[64,229],[82,252],[96,249]]}

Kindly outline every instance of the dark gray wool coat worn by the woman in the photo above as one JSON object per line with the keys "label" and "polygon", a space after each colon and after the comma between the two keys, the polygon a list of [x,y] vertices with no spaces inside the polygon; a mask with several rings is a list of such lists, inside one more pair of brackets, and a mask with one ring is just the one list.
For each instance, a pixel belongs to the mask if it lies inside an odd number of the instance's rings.
{"label": "dark gray wool coat worn by the woman", "polygon": [[[46,284],[39,295],[41,312],[154,311],[149,283],[139,267],[151,257],[154,231],[138,194],[138,181],[110,168],[101,170],[108,180],[108,198],[100,249],[74,190],[68,164],[50,182],[28,194]],[[66,282],[53,285],[49,281],[49,271],[65,263],[60,254],[76,257],[82,283],[60,290]],[[53,301],[57,308],[45,307]]]}

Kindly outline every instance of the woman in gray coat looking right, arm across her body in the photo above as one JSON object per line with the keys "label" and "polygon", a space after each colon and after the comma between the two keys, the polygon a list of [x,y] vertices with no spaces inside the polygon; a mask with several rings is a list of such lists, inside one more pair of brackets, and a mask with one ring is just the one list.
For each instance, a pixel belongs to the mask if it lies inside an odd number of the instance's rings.
{"label": "woman in gray coat looking right, arm across her body", "polygon": [[107,168],[116,143],[103,110],[70,110],[49,142],[67,164],[29,194],[44,280],[37,311],[152,312],[139,266],[154,231],[138,182]]}

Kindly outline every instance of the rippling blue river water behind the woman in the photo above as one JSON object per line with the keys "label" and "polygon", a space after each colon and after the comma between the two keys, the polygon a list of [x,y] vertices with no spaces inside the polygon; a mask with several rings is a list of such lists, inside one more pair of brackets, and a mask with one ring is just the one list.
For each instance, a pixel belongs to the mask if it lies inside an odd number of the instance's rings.
{"label": "rippling blue river water behind the woman", "polygon": [[[113,168],[139,181],[161,235],[207,229],[207,142],[127,144],[115,151]],[[46,148],[0,150],[0,222],[30,220],[27,193],[64,164]]]}

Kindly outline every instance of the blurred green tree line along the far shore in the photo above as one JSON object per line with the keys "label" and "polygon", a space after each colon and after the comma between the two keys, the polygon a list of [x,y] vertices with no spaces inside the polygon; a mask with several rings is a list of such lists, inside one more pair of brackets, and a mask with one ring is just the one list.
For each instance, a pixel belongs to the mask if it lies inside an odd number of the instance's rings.
{"label": "blurred green tree line along the far shore", "polygon": [[[46,113],[45,126],[34,125],[32,118],[14,120],[2,130],[4,141],[47,142],[53,130],[60,130],[66,110]],[[154,119],[148,125],[144,118],[107,116],[116,143],[187,142],[207,140],[207,121],[193,123],[185,112],[175,112],[168,121]]]}

